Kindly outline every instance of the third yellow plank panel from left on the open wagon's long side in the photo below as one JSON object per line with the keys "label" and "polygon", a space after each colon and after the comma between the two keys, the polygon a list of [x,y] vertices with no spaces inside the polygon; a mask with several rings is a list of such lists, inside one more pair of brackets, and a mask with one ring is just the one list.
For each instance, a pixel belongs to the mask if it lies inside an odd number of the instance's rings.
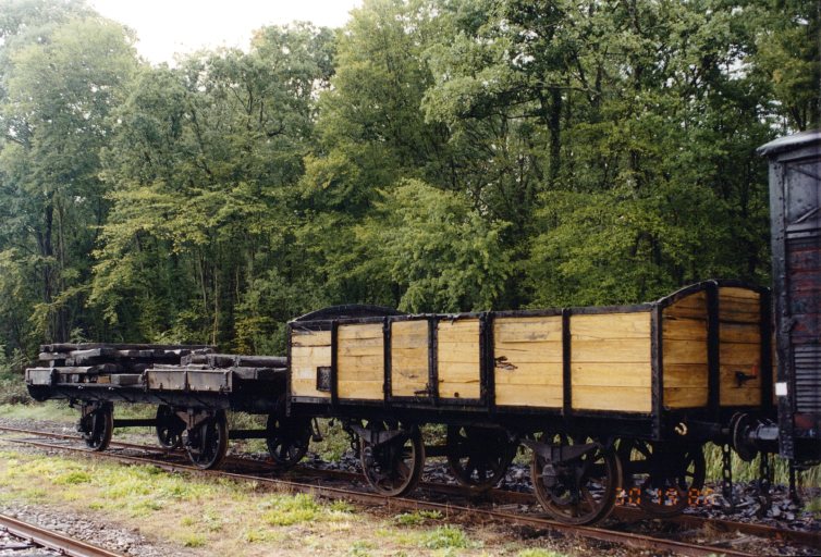
{"label": "third yellow plank panel from left on the open wagon's long side", "polygon": [[428,394],[428,322],[425,320],[391,323],[391,394]]}

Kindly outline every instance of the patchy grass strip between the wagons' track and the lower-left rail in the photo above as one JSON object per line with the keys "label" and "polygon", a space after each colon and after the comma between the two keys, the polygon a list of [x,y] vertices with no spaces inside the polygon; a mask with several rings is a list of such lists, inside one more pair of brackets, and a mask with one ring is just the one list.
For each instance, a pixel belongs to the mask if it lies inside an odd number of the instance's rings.
{"label": "patchy grass strip between the wagons' track and the lower-left rail", "polygon": [[8,502],[136,521],[148,537],[205,555],[516,555],[528,545],[506,531],[442,524],[439,512],[379,518],[348,502],[275,492],[256,482],[0,445],[0,505]]}

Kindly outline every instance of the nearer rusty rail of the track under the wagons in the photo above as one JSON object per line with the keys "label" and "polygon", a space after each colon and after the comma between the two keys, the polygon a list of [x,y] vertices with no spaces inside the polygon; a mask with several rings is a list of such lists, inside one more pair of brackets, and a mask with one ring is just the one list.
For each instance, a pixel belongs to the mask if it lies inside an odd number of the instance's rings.
{"label": "nearer rusty rail of the track under the wagons", "polygon": [[548,520],[538,517],[528,517],[522,515],[511,515],[507,512],[477,509],[457,505],[451,505],[445,503],[432,503],[424,502],[419,499],[410,499],[406,497],[385,497],[376,493],[357,492],[351,490],[344,490],[340,487],[330,487],[316,484],[305,484],[298,482],[292,482],[287,480],[278,480],[265,476],[238,474],[232,472],[225,472],[221,470],[201,470],[194,466],[168,463],[163,461],[152,460],[150,458],[135,457],[128,455],[113,455],[107,453],[89,451],[79,447],[70,447],[64,445],[54,445],[50,443],[36,442],[32,440],[7,440],[12,443],[20,443],[25,445],[37,446],[41,448],[58,449],[69,453],[77,453],[87,458],[102,457],[110,460],[127,462],[127,463],[144,463],[152,465],[162,470],[169,472],[187,472],[194,474],[201,474],[206,476],[226,478],[235,481],[254,481],[257,483],[267,484],[277,487],[281,491],[290,493],[307,493],[315,496],[328,498],[328,499],[344,499],[366,505],[380,506],[388,509],[397,510],[434,510],[439,511],[443,516],[462,515],[468,517],[480,517],[486,520],[497,520],[510,524],[529,527],[541,530],[552,530],[561,532],[565,536],[569,537],[584,537],[588,540],[596,540],[600,542],[606,542],[612,544],[618,544],[627,547],[634,547],[639,549],[663,550],[672,552],[678,555],[687,555],[693,557],[708,557],[716,554],[725,555],[726,557],[752,557],[752,554],[739,552],[736,549],[715,547],[710,545],[696,545],[685,542],[677,542],[673,540],[663,540],[652,537],[642,534],[635,534],[630,532],[620,532],[614,530],[605,530],[597,527],[577,527],[571,524],[564,524],[553,520]]}

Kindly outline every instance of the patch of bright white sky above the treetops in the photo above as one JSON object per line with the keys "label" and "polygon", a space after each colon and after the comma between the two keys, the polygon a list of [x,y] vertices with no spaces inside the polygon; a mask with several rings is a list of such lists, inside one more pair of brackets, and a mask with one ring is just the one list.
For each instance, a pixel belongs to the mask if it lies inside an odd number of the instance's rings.
{"label": "patch of bright white sky above the treetops", "polygon": [[137,50],[151,63],[200,48],[247,48],[265,25],[309,21],[341,27],[362,0],[91,0],[99,13],[136,30]]}

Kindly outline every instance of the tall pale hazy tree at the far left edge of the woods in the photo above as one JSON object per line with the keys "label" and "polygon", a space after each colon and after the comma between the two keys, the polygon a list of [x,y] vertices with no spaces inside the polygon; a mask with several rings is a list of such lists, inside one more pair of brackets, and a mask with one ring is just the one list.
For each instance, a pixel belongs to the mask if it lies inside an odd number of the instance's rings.
{"label": "tall pale hazy tree at the far left edge of the woods", "polygon": [[[78,17],[82,4],[14,4],[3,24],[0,124],[0,250],[34,275],[38,299],[20,300],[26,342],[86,334],[84,311],[96,226],[108,205],[98,178],[108,114],[136,67],[133,37],[119,24]],[[7,40],[8,39],[8,40]],[[17,342],[23,342],[19,338]]]}

